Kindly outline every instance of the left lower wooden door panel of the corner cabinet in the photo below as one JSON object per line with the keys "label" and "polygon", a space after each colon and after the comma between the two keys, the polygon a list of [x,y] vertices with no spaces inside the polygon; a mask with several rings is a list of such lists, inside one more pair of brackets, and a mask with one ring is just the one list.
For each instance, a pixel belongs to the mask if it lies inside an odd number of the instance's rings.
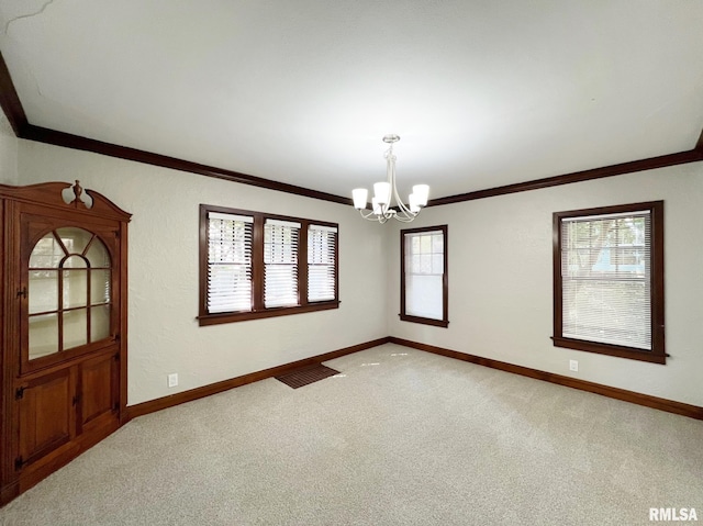
{"label": "left lower wooden door panel of the corner cabinet", "polygon": [[68,443],[75,428],[75,388],[69,369],[20,388],[19,456],[27,465]]}

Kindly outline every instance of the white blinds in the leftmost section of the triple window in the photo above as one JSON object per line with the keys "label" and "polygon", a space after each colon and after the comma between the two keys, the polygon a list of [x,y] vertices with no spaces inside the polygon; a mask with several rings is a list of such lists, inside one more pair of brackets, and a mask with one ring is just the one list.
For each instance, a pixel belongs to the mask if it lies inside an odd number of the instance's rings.
{"label": "white blinds in the leftmost section of the triple window", "polygon": [[208,213],[208,312],[252,310],[254,217]]}

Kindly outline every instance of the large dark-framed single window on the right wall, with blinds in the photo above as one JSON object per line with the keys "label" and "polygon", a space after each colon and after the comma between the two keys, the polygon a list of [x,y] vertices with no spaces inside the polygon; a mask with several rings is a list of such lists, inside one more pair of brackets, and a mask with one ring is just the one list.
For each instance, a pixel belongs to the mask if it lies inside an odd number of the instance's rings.
{"label": "large dark-framed single window on the right wall, with blinds", "polygon": [[663,202],[554,214],[554,345],[666,362]]}

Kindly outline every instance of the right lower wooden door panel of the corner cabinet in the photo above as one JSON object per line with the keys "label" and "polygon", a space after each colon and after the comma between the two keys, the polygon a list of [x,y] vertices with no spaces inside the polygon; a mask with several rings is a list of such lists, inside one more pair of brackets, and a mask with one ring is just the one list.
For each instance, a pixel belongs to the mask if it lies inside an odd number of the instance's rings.
{"label": "right lower wooden door panel of the corner cabinet", "polygon": [[114,354],[86,360],[80,367],[81,426],[99,425],[118,417],[119,362]]}

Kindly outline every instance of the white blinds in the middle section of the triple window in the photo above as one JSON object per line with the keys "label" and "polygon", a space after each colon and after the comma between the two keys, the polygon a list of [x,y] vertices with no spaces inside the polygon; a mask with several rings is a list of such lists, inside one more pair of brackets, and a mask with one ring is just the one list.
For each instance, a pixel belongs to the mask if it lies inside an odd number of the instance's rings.
{"label": "white blinds in the middle section of the triple window", "polygon": [[300,223],[266,220],[264,224],[264,305],[298,305],[298,235]]}

